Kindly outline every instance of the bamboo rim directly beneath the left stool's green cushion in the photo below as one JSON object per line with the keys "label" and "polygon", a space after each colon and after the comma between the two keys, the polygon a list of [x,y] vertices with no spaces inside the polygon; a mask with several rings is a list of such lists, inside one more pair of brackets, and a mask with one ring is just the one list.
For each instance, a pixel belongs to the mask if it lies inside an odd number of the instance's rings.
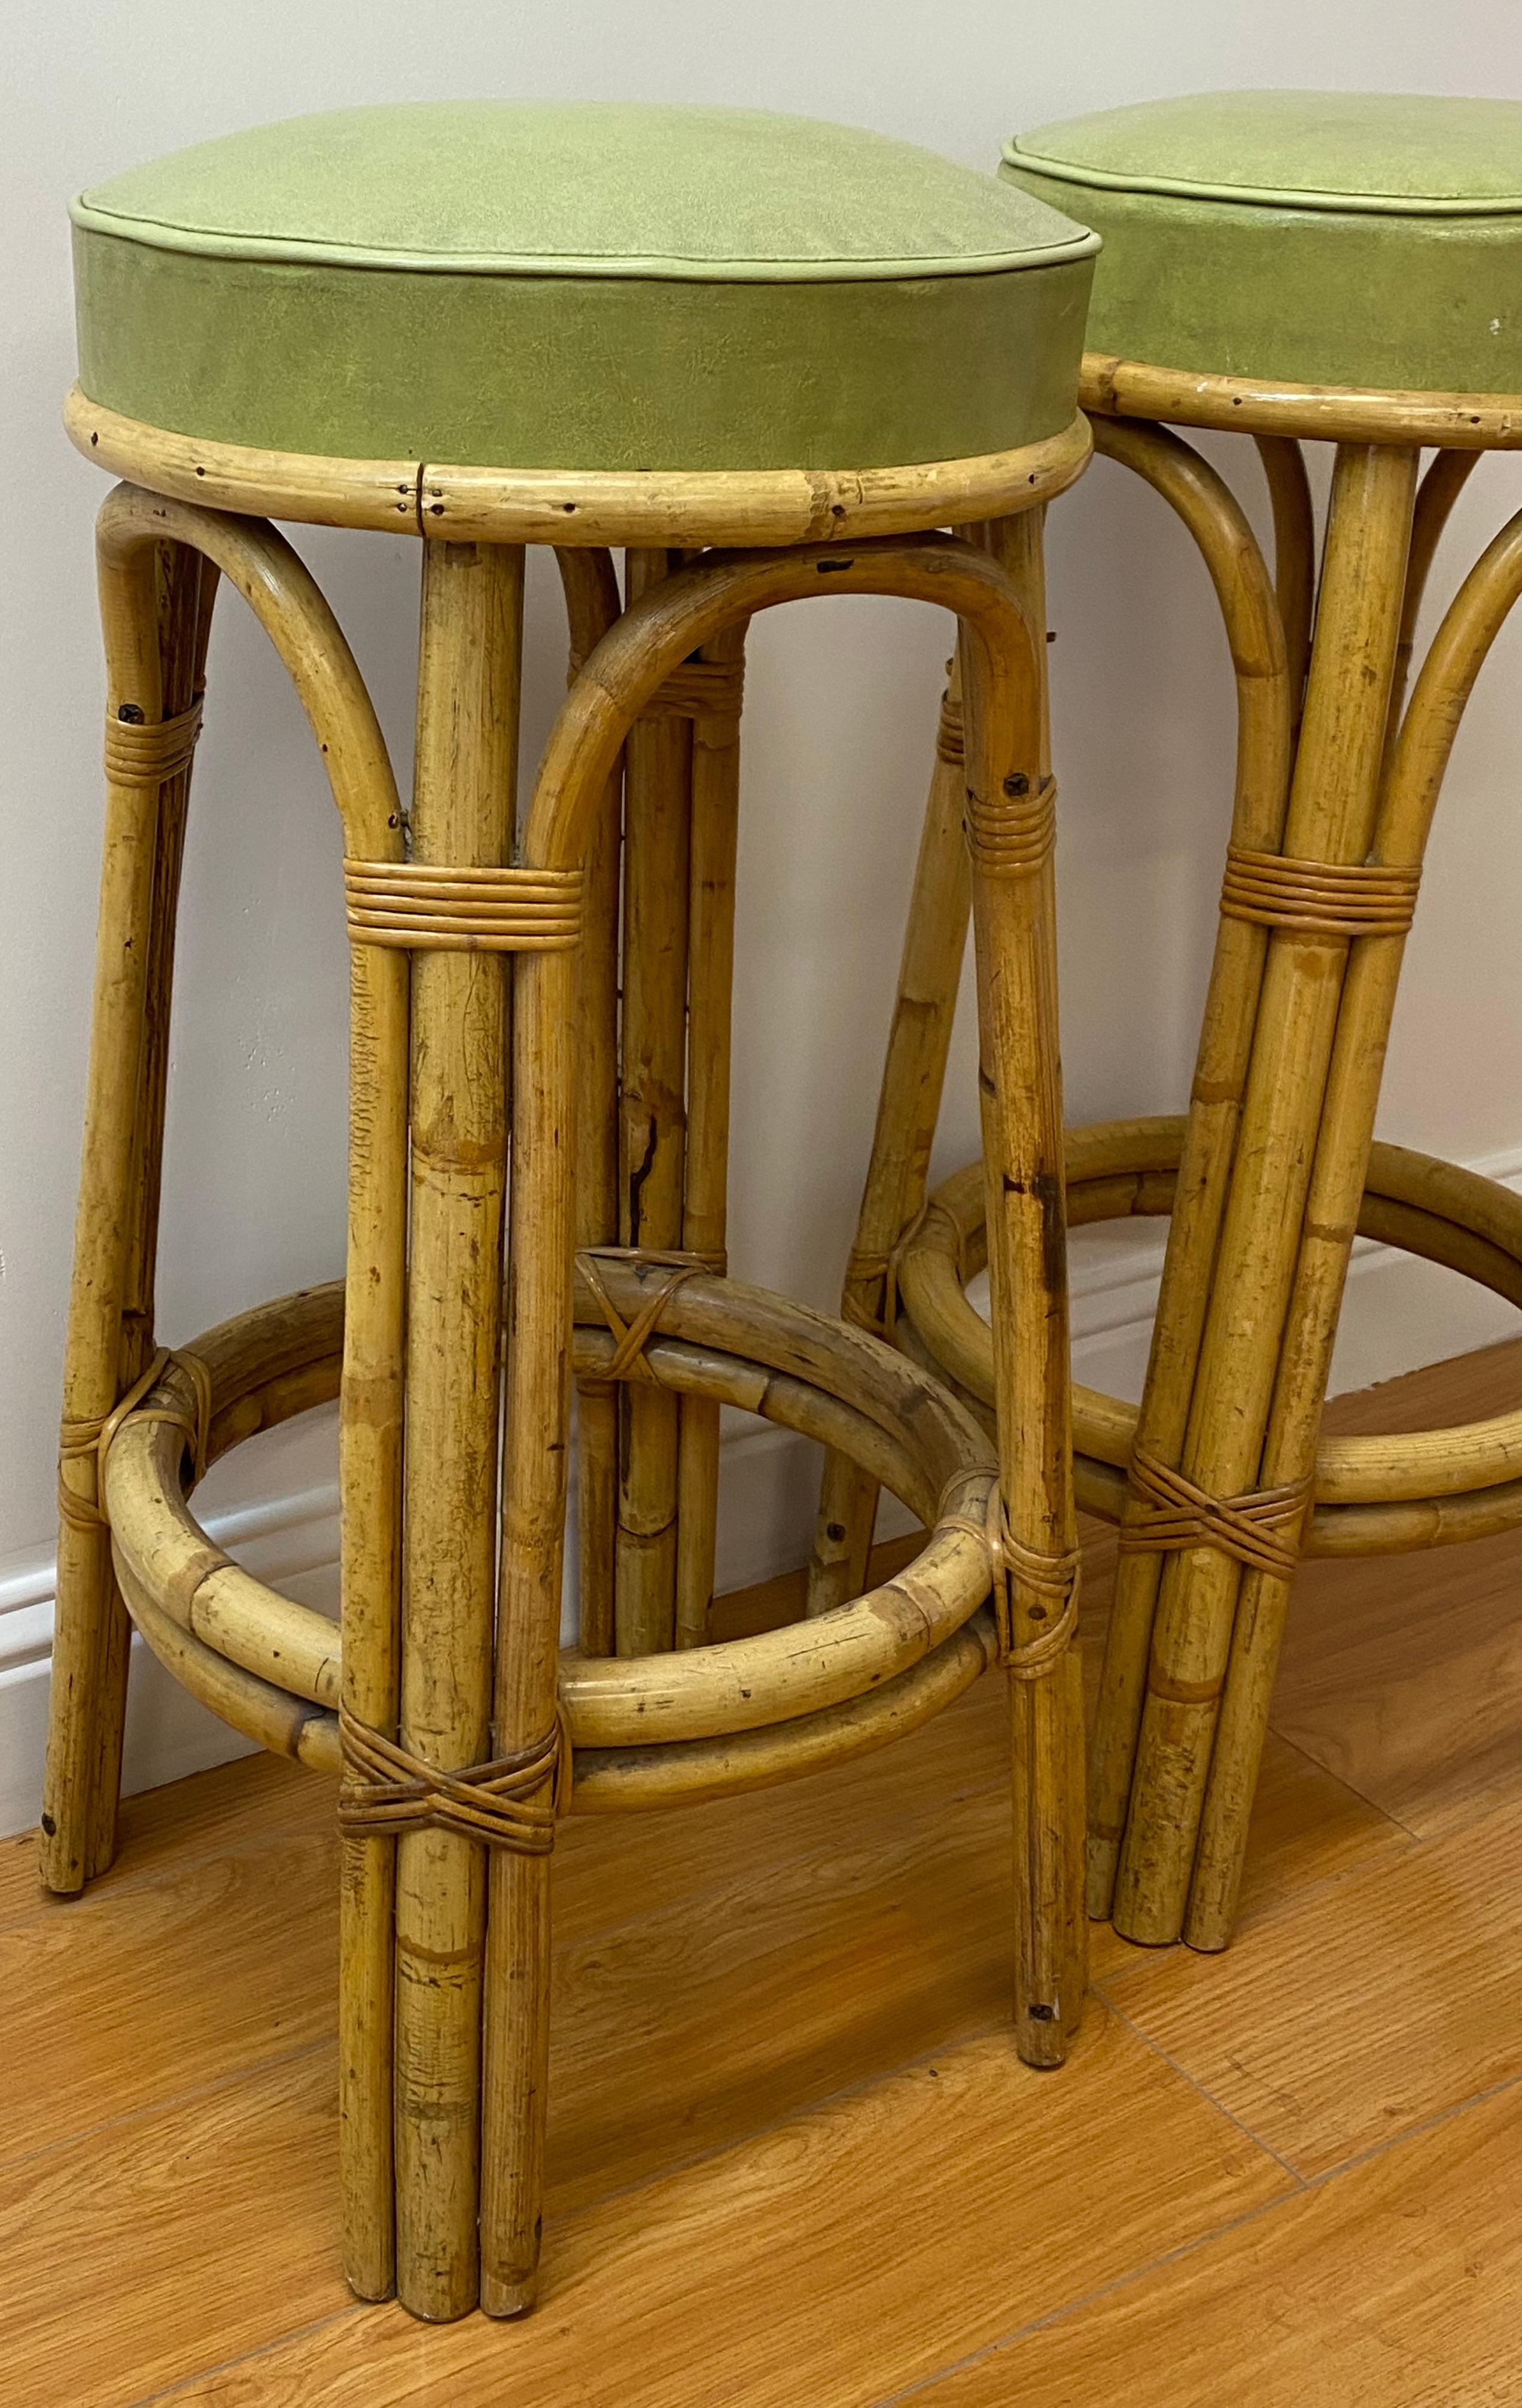
{"label": "bamboo rim directly beneath the left stool's green cushion", "polygon": [[1014,518],[1067,491],[1093,448],[1089,419],[1076,412],[1055,436],[1014,450],[869,470],[337,460],[176,433],[92,402],[79,385],[65,400],[63,424],[87,460],[171,501],[299,525],[561,549],[860,542]]}

